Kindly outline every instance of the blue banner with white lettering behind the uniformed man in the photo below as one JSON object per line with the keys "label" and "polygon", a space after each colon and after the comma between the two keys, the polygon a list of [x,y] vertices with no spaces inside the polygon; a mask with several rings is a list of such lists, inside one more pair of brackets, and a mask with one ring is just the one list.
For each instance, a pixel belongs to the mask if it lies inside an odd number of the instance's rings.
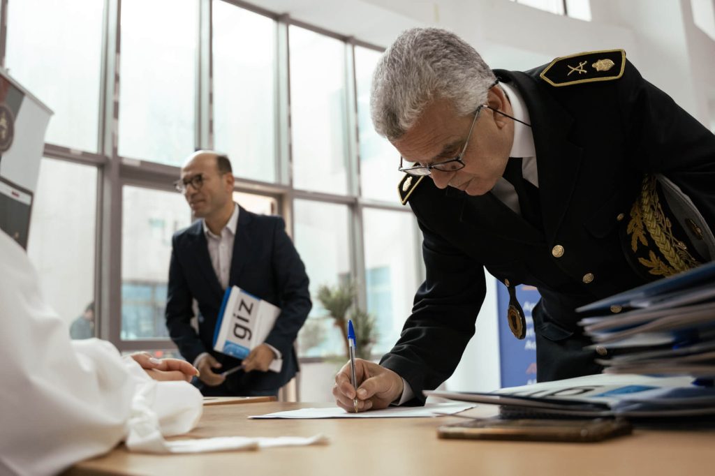
{"label": "blue banner with white lettering behind the uniformed man", "polygon": [[536,335],[531,320],[531,309],[541,296],[536,287],[519,284],[516,287],[516,299],[524,309],[526,317],[526,337],[519,340],[509,329],[506,312],[509,307],[509,292],[506,286],[497,284],[497,302],[499,315],[499,361],[501,363],[501,386],[516,387],[536,383]]}

